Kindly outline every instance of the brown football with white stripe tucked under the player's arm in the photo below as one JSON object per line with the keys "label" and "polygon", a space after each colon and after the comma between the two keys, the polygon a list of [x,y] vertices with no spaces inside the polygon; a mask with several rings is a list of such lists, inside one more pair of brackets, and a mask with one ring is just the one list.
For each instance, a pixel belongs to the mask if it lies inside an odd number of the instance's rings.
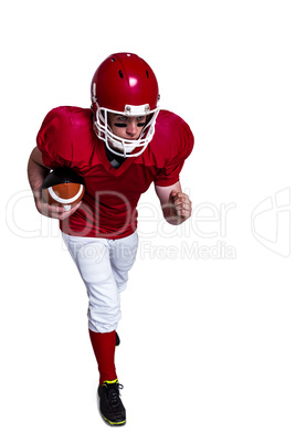
{"label": "brown football with white stripe tucked under the player's arm", "polygon": [[42,184],[42,198],[51,205],[71,210],[85,192],[84,180],[70,168],[57,168],[51,171]]}

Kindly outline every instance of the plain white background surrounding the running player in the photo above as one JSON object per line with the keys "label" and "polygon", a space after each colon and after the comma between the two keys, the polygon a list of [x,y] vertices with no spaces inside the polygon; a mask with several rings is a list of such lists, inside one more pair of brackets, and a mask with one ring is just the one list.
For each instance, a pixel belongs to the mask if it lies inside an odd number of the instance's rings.
{"label": "plain white background surrounding the running player", "polygon": [[[1,7],[1,442],[295,444],[294,7]],[[162,223],[152,189],[140,201],[116,352],[127,424],[115,430],[97,412],[85,290],[56,222],[34,209],[27,162],[45,114],[88,107],[94,71],[119,51],[152,66],[195,149],[187,224]]]}

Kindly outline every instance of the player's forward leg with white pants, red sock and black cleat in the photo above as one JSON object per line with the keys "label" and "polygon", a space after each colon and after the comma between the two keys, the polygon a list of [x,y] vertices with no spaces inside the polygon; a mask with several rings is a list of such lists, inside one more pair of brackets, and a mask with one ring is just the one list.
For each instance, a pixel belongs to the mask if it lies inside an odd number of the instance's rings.
{"label": "player's forward leg with white pants, red sock and black cleat", "polygon": [[115,329],[120,318],[120,300],[105,240],[63,235],[86,285],[89,298],[89,337],[99,371],[101,412],[113,425],[125,423],[115,369]]}

